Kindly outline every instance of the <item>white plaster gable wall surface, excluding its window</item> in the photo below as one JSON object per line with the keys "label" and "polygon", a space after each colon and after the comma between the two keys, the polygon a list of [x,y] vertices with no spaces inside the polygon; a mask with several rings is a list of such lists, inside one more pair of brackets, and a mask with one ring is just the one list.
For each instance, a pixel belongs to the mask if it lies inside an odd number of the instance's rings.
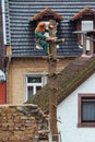
{"label": "white plaster gable wall surface, excluding its window", "polygon": [[78,128],[78,94],[95,93],[95,73],[58,105],[62,142],[95,142],[95,128]]}

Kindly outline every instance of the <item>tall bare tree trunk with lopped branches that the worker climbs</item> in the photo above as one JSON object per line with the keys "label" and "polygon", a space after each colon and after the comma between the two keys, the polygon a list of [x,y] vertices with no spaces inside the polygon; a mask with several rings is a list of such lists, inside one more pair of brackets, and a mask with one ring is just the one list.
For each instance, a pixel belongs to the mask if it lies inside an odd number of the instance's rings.
{"label": "tall bare tree trunk with lopped branches that the worker climbs", "polygon": [[56,68],[57,68],[57,43],[64,42],[64,39],[57,39],[57,22],[49,21],[49,36],[52,37],[49,44],[51,57],[48,57],[48,75],[49,75],[49,122],[52,141],[58,141],[57,128],[57,96],[56,96]]}

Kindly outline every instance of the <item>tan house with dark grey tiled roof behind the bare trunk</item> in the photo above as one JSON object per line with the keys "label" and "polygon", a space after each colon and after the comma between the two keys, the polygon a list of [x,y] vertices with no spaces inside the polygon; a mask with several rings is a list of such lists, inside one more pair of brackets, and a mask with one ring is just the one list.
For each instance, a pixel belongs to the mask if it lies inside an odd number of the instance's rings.
{"label": "tan house with dark grey tiled roof behind the bare trunk", "polygon": [[[60,72],[79,57],[83,51],[83,46],[85,47],[83,34],[76,33],[78,25],[85,15],[88,15],[90,19],[92,16],[92,21],[94,21],[94,1],[3,0],[2,4],[4,8],[7,103],[24,103],[48,82],[47,56],[44,49],[36,48],[35,43],[34,31],[37,23],[39,21],[48,22],[50,19],[58,23],[57,37],[66,39],[57,48],[57,57],[59,58],[57,72]],[[87,7],[88,10],[85,10]],[[83,10],[82,15],[79,14],[81,10]],[[92,25],[92,22],[90,23]],[[90,38],[93,35],[93,28],[90,31],[91,33],[87,34],[90,34]],[[94,47],[94,44],[92,46]],[[84,54],[86,54],[85,50]],[[88,56],[93,54],[94,49],[88,51]]]}

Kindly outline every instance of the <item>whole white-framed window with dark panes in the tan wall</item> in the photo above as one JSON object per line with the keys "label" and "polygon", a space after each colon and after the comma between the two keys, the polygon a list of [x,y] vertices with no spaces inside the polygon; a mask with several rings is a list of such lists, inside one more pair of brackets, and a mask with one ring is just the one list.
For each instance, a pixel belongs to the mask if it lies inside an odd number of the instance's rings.
{"label": "whole white-framed window with dark panes in the tan wall", "polygon": [[47,83],[47,75],[26,75],[26,100]]}

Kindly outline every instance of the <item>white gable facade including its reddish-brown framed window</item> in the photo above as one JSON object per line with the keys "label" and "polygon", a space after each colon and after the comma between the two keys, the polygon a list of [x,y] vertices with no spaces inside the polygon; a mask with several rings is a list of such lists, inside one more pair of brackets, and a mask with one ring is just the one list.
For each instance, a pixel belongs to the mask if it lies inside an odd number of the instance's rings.
{"label": "white gable facade including its reddish-brown framed window", "polygon": [[58,105],[62,142],[95,141],[95,73]]}

